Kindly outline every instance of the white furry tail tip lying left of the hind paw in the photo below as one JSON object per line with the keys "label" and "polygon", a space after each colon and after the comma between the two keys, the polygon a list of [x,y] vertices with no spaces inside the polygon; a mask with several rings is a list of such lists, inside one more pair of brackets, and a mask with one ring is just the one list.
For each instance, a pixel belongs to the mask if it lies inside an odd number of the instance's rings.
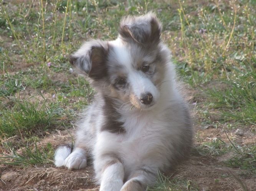
{"label": "white furry tail tip lying left of the hind paw", "polygon": [[58,147],[54,154],[54,164],[56,167],[65,165],[65,159],[72,152],[72,146],[70,144],[63,144]]}

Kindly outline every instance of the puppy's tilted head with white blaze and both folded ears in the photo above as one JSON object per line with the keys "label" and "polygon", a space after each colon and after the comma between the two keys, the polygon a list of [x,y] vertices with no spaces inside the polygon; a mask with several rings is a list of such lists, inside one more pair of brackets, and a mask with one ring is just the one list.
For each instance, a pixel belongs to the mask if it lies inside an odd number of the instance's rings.
{"label": "puppy's tilted head with white blaze and both folded ears", "polygon": [[170,53],[160,40],[161,30],[153,13],[128,16],[122,19],[116,40],[86,42],[71,55],[70,62],[103,95],[130,107],[149,109],[160,97],[169,61]]}

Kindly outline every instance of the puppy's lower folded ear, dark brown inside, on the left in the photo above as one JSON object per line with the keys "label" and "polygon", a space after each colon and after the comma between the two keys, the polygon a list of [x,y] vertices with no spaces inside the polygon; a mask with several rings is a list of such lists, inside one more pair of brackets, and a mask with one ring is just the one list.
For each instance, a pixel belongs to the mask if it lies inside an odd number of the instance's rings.
{"label": "puppy's lower folded ear, dark brown inside, on the left", "polygon": [[97,80],[107,75],[107,43],[101,40],[92,40],[84,43],[81,48],[70,56],[69,62],[76,66],[82,74]]}

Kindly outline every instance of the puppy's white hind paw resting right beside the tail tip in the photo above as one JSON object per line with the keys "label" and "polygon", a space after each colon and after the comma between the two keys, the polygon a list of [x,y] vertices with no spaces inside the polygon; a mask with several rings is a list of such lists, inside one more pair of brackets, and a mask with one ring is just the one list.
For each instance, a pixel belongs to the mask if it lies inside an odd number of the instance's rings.
{"label": "puppy's white hind paw resting right beside the tail tip", "polygon": [[66,159],[65,166],[68,169],[81,169],[86,167],[86,155],[84,151],[75,150]]}

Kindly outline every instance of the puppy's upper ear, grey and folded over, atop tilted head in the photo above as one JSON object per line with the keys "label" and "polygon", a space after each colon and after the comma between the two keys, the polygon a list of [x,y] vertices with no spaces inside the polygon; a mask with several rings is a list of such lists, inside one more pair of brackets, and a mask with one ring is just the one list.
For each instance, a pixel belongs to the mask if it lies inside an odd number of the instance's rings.
{"label": "puppy's upper ear, grey and folded over, atop tilted head", "polygon": [[133,40],[140,44],[155,44],[160,41],[162,25],[150,12],[143,16],[127,16],[123,18],[119,27],[119,34],[123,40]]}

